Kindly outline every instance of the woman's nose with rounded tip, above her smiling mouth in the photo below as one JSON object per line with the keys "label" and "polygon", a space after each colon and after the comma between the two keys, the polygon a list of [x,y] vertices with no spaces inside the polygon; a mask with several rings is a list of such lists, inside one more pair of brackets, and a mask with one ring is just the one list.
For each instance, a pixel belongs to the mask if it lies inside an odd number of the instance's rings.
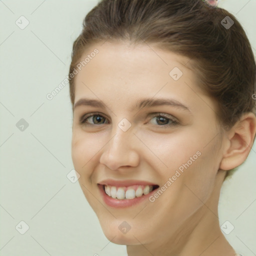
{"label": "woman's nose with rounded tip, above her smiling mouth", "polygon": [[114,135],[111,135],[112,138],[103,147],[100,163],[111,170],[124,166],[137,166],[139,163],[139,155],[135,149],[137,137],[131,128],[123,131],[117,125],[115,127],[116,129],[112,130]]}

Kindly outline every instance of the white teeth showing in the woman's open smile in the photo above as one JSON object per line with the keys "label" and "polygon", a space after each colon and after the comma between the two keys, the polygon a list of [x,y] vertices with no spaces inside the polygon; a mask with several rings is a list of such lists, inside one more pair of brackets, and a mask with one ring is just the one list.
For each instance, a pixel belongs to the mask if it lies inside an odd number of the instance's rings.
{"label": "white teeth showing in the woman's open smile", "polygon": [[132,186],[111,186],[111,185],[101,185],[105,193],[112,198],[116,199],[133,199],[135,197],[141,197],[158,188],[158,185],[132,185]]}

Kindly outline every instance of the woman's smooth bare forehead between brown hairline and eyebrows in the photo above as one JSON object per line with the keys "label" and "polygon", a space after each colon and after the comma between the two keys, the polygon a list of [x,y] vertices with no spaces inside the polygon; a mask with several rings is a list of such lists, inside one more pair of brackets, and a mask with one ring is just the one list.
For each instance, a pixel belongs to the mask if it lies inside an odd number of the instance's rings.
{"label": "woman's smooth bare forehead between brown hairline and eyebrows", "polygon": [[[95,49],[97,54],[92,54]],[[74,102],[86,96],[131,109],[140,98],[170,97],[195,108],[205,106],[186,56],[146,43],[106,41],[87,48],[81,61],[85,58],[75,76]]]}

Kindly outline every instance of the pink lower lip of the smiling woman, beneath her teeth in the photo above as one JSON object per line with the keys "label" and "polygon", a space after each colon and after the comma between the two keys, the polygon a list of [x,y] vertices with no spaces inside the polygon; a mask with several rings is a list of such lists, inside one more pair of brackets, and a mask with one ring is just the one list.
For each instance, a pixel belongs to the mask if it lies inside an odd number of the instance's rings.
{"label": "pink lower lip of the smiling woman, beneath her teeth", "polygon": [[97,184],[97,185],[98,185],[99,191],[103,197],[105,204],[107,204],[108,206],[111,206],[111,207],[115,207],[115,208],[130,207],[134,204],[138,204],[138,203],[148,199],[148,197],[154,193],[154,190],[152,190],[148,194],[143,194],[142,196],[135,197],[133,199],[116,199],[116,198],[110,197],[109,195],[107,195],[105,193],[104,185],[100,185],[100,184]]}

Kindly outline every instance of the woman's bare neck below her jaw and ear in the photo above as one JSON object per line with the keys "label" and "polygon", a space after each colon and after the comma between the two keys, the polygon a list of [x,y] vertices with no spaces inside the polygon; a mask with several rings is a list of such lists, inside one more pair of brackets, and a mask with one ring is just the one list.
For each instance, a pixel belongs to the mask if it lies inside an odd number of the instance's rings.
{"label": "woman's bare neck below her jaw and ear", "polygon": [[218,171],[209,198],[172,235],[166,235],[164,241],[156,236],[150,244],[127,245],[128,256],[233,256],[235,251],[222,234],[218,220],[224,176],[225,171]]}

